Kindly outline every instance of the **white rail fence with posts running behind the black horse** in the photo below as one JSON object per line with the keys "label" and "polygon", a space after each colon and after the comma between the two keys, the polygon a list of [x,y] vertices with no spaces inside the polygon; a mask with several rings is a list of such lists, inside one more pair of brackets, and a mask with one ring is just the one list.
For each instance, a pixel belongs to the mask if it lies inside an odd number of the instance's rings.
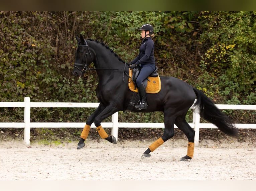
{"label": "white rail fence with posts running behind the black horse", "polygon": [[[98,107],[99,103],[69,103],[69,102],[30,102],[30,97],[24,97],[24,102],[0,102],[0,107],[24,107],[24,122],[1,122],[0,128],[24,128],[24,142],[30,144],[30,128],[62,128],[73,127],[83,128],[85,122],[30,122],[30,108],[31,107]],[[242,109],[242,110],[256,110],[256,105],[227,105],[216,104],[219,109]],[[217,128],[212,123],[200,123],[200,114],[197,113],[197,109],[192,105],[190,107],[193,110],[193,122],[188,123],[194,128],[195,145],[199,144],[199,130],[200,128]],[[104,128],[112,128],[111,134],[118,139],[118,128],[164,128],[164,123],[120,123],[118,122],[118,112],[112,115],[112,122],[104,122],[101,125]],[[235,124],[238,128],[256,129],[256,124]],[[91,127],[95,127],[94,123]],[[176,125],[174,125],[177,128]]]}

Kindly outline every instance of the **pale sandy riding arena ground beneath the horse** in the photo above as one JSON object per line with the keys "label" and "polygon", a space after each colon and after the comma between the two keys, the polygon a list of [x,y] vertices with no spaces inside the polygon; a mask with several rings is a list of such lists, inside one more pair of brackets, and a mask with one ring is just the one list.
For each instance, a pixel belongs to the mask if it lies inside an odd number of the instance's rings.
{"label": "pale sandy riding arena ground beneath the horse", "polygon": [[186,140],[166,141],[141,159],[150,141],[106,140],[43,145],[0,142],[0,180],[256,180],[256,148],[205,140],[186,155]]}

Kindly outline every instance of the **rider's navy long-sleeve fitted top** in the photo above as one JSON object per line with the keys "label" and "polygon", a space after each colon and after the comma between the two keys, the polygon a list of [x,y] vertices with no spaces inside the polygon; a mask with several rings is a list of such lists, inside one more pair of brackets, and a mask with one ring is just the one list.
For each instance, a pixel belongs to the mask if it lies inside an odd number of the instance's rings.
{"label": "rider's navy long-sleeve fitted top", "polygon": [[131,64],[149,64],[155,66],[155,57],[154,57],[154,41],[151,37],[147,37],[143,40],[138,56],[131,62]]}

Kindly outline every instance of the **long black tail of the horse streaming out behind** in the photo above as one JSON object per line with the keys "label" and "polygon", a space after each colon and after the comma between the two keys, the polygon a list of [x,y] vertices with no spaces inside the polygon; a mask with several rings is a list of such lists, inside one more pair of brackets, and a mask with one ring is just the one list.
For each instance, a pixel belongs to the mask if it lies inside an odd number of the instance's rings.
{"label": "long black tail of the horse streaming out behind", "polygon": [[215,124],[225,134],[236,136],[238,135],[238,128],[231,122],[231,119],[225,115],[214,102],[207,97],[203,92],[193,87],[197,95],[196,106],[199,107],[200,115]]}

